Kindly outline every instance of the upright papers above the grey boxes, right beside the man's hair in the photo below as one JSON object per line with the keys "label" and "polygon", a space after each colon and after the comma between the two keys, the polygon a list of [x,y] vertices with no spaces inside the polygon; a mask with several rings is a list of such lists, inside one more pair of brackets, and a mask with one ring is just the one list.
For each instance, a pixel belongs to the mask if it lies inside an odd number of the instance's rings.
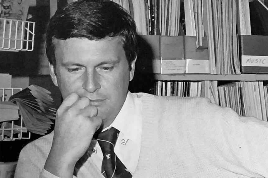
{"label": "upright papers above the grey boxes, right beside the man's hair", "polygon": [[178,35],[180,0],[111,0],[132,15],[140,35]]}

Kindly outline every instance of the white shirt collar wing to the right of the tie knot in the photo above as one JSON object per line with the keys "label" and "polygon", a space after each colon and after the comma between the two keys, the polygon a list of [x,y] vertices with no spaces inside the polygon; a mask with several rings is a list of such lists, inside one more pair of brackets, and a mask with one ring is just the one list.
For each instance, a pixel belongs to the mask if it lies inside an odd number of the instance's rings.
{"label": "white shirt collar wing to the right of the tie knot", "polygon": [[116,118],[113,120],[112,124],[108,126],[107,128],[104,128],[104,130],[107,130],[111,127],[114,127],[118,129],[125,138],[130,139],[134,142],[137,141],[137,135],[139,132],[139,104],[137,104],[139,100],[137,99],[135,94],[132,94],[131,92],[127,93],[127,98],[119,111]]}

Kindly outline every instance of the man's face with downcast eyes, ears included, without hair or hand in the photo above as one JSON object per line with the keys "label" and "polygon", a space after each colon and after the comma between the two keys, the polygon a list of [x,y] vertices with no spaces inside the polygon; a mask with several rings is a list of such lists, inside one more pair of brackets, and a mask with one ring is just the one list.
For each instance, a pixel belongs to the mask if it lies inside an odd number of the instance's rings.
{"label": "man's face with downcast eyes, ears included, without hair or hand", "polygon": [[[50,65],[52,80],[63,99],[71,93],[90,99],[98,108],[104,127],[109,126],[125,102],[135,61],[129,70],[121,37],[100,41],[54,39],[56,65]],[[54,73],[55,71],[55,73]]]}

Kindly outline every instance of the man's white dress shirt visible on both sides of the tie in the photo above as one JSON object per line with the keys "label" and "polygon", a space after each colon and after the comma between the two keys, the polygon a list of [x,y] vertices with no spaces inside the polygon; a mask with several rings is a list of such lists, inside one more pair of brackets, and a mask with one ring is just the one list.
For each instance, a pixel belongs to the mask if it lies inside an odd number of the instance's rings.
{"label": "man's white dress shirt visible on both sides of the tie", "polygon": [[[103,131],[111,127],[120,131],[114,152],[128,171],[133,173],[137,167],[141,149],[141,99],[137,98],[136,94],[127,93],[120,112],[113,123]],[[88,154],[101,171],[103,154],[98,141],[92,140]]]}

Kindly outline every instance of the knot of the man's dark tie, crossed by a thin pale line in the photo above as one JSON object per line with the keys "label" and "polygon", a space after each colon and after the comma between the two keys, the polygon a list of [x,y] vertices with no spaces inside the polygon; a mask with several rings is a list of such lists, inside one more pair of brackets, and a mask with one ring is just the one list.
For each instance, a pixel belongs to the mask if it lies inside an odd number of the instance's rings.
{"label": "knot of the man's dark tie, crossed by a thin pale line", "polygon": [[114,151],[114,146],[117,141],[118,134],[119,130],[113,127],[99,133],[97,141],[99,142],[99,146],[103,154],[109,151]]}

